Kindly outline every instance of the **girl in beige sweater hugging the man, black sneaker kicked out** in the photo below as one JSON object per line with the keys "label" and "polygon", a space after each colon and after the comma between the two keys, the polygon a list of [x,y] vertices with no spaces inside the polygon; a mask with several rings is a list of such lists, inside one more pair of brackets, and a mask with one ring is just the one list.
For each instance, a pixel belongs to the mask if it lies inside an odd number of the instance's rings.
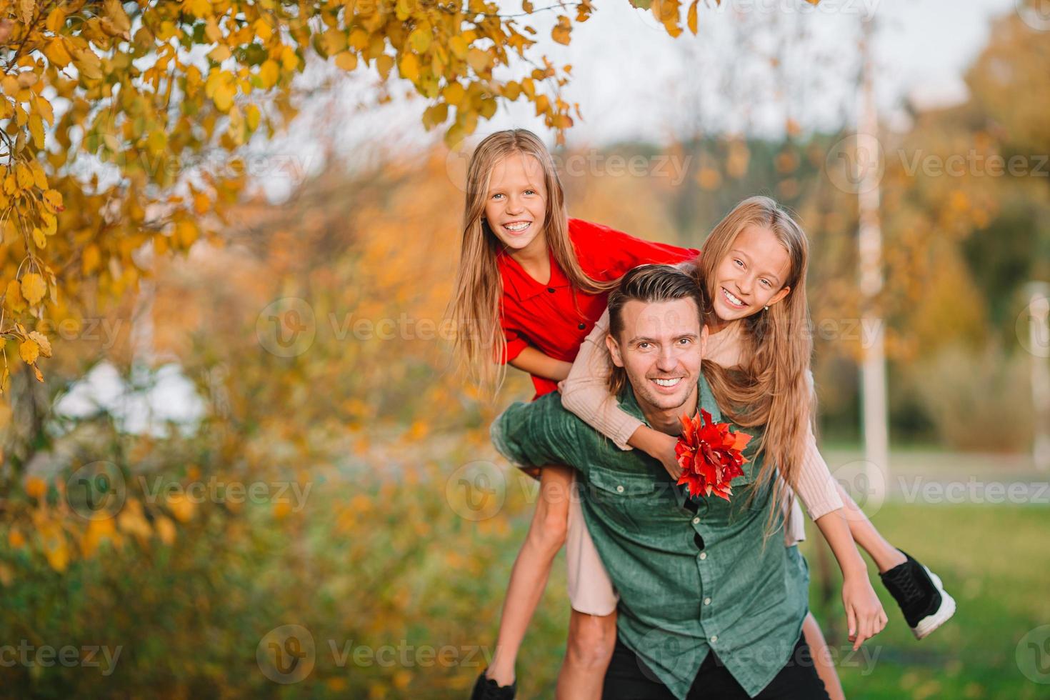
{"label": "girl in beige sweater hugging the man, black sneaker kicked out", "polygon": [[[801,250],[795,251],[796,248]],[[803,517],[794,497],[797,493],[810,517],[833,545],[844,576],[856,581],[861,575],[856,561],[843,561],[843,550],[836,547],[827,527],[835,518],[844,516],[853,539],[875,561],[912,633],[921,639],[954,613],[954,600],[936,574],[891,546],[876,530],[832,478],[817,449],[811,421],[813,377],[808,367],[812,344],[804,290],[806,253],[804,234],[791,216],[768,197],[751,197],[715,227],[697,260],[679,263],[678,267],[696,274],[708,302],[705,374],[723,394],[727,390],[730,396],[735,394],[741,405],[762,396],[766,399],[766,413],[753,419],[779,428],[773,430],[774,439],[765,448],[780,467],[781,478],[776,488],[785,514],[785,546],[797,545],[805,536]],[[677,479],[680,468],[674,453],[676,439],[646,426],[621,409],[616,398],[609,393],[609,345],[614,341],[609,339],[608,325],[606,312],[581,345],[568,378],[559,384],[562,404],[607,434],[621,449],[643,449],[659,460]],[[780,425],[776,425],[778,419]],[[580,509],[572,509],[570,517],[581,517]],[[596,559],[586,528],[578,530],[583,535],[578,542],[568,543],[568,555],[587,561]],[[863,577],[866,576],[864,567]],[[591,578],[602,582],[592,587],[594,595],[614,599],[615,592],[604,584],[607,578],[603,580],[601,575]],[[856,648],[860,640],[882,629],[885,617],[880,607],[879,617],[874,621],[870,615],[866,620],[860,619],[861,611],[858,609],[855,615],[847,596],[844,588],[849,638]],[[855,593],[854,597],[858,595]],[[842,697],[835,667],[812,615],[803,630],[830,695]]]}

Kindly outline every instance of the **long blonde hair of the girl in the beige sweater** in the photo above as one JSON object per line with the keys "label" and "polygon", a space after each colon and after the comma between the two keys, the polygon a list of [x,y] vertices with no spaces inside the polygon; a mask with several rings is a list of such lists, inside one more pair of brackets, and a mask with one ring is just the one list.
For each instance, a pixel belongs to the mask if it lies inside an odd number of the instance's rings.
{"label": "long blonde hair of the girl in the beige sweater", "polygon": [[[814,394],[807,379],[813,340],[805,299],[810,260],[805,233],[772,198],[748,197],[704,241],[697,282],[704,291],[706,306],[713,314],[711,301],[717,293],[718,264],[732,250],[737,235],[749,226],[772,231],[788,251],[791,270],[784,287],[791,291],[768,310],[739,321],[743,324],[741,349],[746,358],[740,367],[724,368],[705,362],[702,372],[728,418],[742,426],[765,426],[756,450],[763,455],[758,484],[769,482],[774,469],[779,468],[784,481],[795,487],[805,451],[805,422],[814,415]],[[774,503],[779,502],[780,491],[777,483]]]}

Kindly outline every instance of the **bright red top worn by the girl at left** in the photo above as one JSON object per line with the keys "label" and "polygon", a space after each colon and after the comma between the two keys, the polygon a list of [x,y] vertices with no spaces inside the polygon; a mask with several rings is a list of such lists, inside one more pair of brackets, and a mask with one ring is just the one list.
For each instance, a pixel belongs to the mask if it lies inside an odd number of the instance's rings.
{"label": "bright red top worn by the girl at left", "polygon": [[[631,268],[649,262],[673,264],[700,254],[695,248],[655,243],[623,231],[579,218],[569,219],[569,239],[580,267],[592,279],[610,280]],[[509,362],[531,345],[555,360],[572,362],[580,343],[602,317],[609,293],[585,294],[569,284],[565,272],[550,256],[550,280],[541,284],[506,252],[497,256],[503,278],[500,324],[507,339],[507,352],[498,361]],[[579,303],[578,312],[572,297]],[[536,396],[558,390],[558,382],[532,376]]]}

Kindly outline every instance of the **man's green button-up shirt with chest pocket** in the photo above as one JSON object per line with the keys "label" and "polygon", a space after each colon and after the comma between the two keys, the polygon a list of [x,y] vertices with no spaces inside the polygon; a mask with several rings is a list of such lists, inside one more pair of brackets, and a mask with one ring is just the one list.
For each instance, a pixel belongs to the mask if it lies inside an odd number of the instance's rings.
{"label": "man's green button-up shirt with chest pocket", "polygon": [[[721,420],[702,376],[698,386],[700,405]],[[645,421],[630,385],[618,398]],[[565,464],[584,476],[584,519],[620,592],[620,639],[676,698],[687,696],[711,650],[749,697],[788,663],[808,609],[810,570],[797,547],[783,545],[772,481],[756,484],[758,440],[744,449],[751,462],[733,480],[731,501],[695,497],[693,512],[686,487],[657,460],[617,448],[564,409],[556,391],[512,404],[491,438],[517,464]],[[763,538],[771,508],[774,530]]]}

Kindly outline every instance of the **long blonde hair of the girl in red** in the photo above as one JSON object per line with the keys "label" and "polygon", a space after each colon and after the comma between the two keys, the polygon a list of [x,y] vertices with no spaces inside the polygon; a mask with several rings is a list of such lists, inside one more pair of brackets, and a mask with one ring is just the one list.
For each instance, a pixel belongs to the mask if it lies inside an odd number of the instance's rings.
{"label": "long blonde hair of the girl in red", "polygon": [[506,354],[506,338],[499,322],[503,280],[496,263],[497,255],[505,247],[484,220],[485,201],[496,164],[516,153],[531,155],[543,168],[547,189],[544,234],[569,283],[585,294],[601,294],[615,287],[615,281],[592,279],[580,267],[569,239],[562,181],[539,136],[527,129],[507,129],[489,134],[478,144],[466,172],[463,242],[450,314],[456,327],[454,352],[461,366],[465,365],[482,389],[491,388],[494,395],[506,375],[506,365],[498,362]]}

